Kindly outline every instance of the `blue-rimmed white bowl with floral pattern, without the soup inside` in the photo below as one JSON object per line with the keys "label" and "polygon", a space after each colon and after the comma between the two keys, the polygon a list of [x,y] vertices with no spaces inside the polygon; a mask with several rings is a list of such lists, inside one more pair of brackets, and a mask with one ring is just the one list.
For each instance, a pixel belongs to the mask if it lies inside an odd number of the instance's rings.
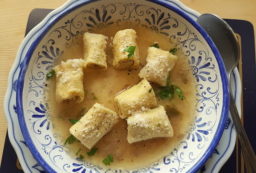
{"label": "blue-rimmed white bowl with floral pattern, without the soup inside", "polygon": [[[64,5],[65,6],[65,5]],[[74,0],[30,40],[17,85],[17,113],[30,151],[48,173],[196,172],[214,151],[228,115],[226,71],[209,36],[187,14],[158,0]],[[83,32],[130,22],[149,28],[181,48],[197,84],[197,117],[188,135],[166,157],[134,170],[98,167],[72,159],[52,133],[45,75]],[[33,42],[32,42],[33,41]]]}

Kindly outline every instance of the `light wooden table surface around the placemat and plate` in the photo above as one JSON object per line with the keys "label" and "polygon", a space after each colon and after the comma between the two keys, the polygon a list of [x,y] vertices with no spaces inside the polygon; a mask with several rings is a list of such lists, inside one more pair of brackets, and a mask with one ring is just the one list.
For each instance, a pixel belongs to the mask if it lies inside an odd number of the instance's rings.
{"label": "light wooden table surface around the placemat and plate", "polygon": [[[0,0],[0,160],[7,123],[3,104],[7,78],[34,8],[58,8],[66,0]],[[256,0],[181,0],[200,14],[214,13],[222,18],[250,21],[256,28]],[[255,30],[254,30],[255,33]],[[254,34],[255,35],[255,34]]]}

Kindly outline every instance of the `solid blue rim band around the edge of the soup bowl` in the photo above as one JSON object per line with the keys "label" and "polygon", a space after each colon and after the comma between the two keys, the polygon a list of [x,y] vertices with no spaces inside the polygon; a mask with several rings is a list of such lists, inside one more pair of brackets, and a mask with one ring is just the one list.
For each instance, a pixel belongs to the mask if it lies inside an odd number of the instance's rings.
{"label": "solid blue rim band around the edge of the soup bowl", "polygon": [[[78,0],[79,1],[79,0]],[[23,88],[24,88],[24,77],[26,75],[26,71],[30,62],[30,59],[32,58],[32,55],[34,54],[34,51],[38,44],[40,43],[40,40],[48,33],[48,31],[56,24],[60,19],[62,19],[67,14],[73,12],[74,10],[80,8],[81,6],[97,2],[101,0],[85,0],[78,2],[76,4],[72,4],[72,6],[68,6],[64,8],[64,10],[60,11],[59,13],[55,14],[57,15],[53,20],[46,23],[44,26],[42,26],[42,30],[40,30],[40,33],[38,34],[37,38],[32,42],[30,48],[28,48],[28,51],[26,53],[26,56],[24,58],[24,61],[22,62],[20,73],[18,76],[18,83],[17,83],[17,95],[16,95],[16,105],[17,105],[17,114],[18,114],[18,121],[20,124],[20,129],[22,131],[22,135],[24,136],[24,139],[26,141],[26,144],[28,148],[30,149],[31,153],[34,155],[35,159],[38,161],[38,163],[42,166],[42,168],[49,172],[49,173],[57,173],[40,155],[40,152],[36,149],[34,142],[32,141],[32,138],[29,134],[28,127],[26,126],[26,121],[24,117],[24,111],[23,111]],[[228,108],[229,108],[229,84],[228,79],[226,75],[226,70],[224,67],[224,63],[222,61],[222,58],[220,56],[220,53],[218,52],[215,44],[211,40],[210,36],[204,31],[204,29],[190,16],[185,14],[182,10],[172,6],[171,4],[168,4],[167,2],[163,2],[161,0],[144,0],[153,2],[155,4],[158,4],[160,6],[163,6],[169,10],[174,11],[178,15],[182,16],[185,20],[187,20],[198,32],[203,36],[207,44],[209,45],[210,49],[212,50],[216,61],[218,63],[219,71],[220,71],[220,78],[222,81],[222,90],[223,90],[223,105],[222,105],[222,111],[220,116],[220,121],[218,123],[218,127],[216,130],[216,133],[212,139],[213,145],[209,145],[206,149],[206,152],[202,155],[202,157],[199,159],[199,161],[194,164],[192,168],[190,168],[187,173],[195,173],[200,167],[204,165],[204,163],[207,161],[207,159],[210,157],[216,146],[218,145],[218,141],[220,141],[220,138],[222,136],[222,133],[224,131],[224,125],[226,124],[226,119],[228,117]],[[46,164],[45,164],[46,163]]]}

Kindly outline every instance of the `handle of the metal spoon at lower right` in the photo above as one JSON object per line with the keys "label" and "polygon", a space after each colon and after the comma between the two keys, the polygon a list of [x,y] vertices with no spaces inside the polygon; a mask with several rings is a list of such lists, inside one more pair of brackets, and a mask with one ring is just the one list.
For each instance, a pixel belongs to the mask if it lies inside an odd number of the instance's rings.
{"label": "handle of the metal spoon at lower right", "polygon": [[236,105],[235,105],[235,101],[234,101],[234,97],[233,97],[230,85],[229,85],[229,91],[230,91],[229,110],[236,128],[238,139],[241,144],[246,171],[247,173],[256,173],[256,156],[254,154],[250,141],[244,131],[244,127],[238,115],[238,111],[236,109]]}

